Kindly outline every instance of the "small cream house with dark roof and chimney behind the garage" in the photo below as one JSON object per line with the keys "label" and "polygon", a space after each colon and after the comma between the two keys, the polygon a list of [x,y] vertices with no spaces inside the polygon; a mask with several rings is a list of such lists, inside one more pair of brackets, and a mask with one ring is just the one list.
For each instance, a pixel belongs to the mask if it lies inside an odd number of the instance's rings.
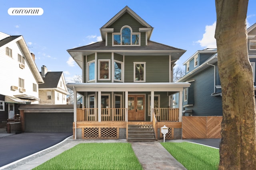
{"label": "small cream house with dark roof and chimney behind the garage", "polygon": [[68,88],[62,71],[52,72],[41,67],[44,84],[39,84],[40,104],[67,104]]}

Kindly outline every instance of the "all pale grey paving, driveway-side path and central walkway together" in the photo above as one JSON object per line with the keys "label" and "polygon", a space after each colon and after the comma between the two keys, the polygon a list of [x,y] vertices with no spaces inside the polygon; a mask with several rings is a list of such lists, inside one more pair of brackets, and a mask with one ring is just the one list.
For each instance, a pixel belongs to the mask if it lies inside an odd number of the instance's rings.
{"label": "all pale grey paving, driveway-side path and central walkway together", "polygon": [[[12,162],[6,166],[0,167],[0,170],[30,170],[36,166],[46,162],[47,160],[57,156],[58,154],[68,150],[79,143],[126,143],[126,140],[74,140],[68,137],[61,143],[54,145],[48,149],[42,150],[21,160]],[[186,170],[173,156],[167,152],[162,145],[155,142],[132,142],[138,160],[142,164],[144,170]]]}

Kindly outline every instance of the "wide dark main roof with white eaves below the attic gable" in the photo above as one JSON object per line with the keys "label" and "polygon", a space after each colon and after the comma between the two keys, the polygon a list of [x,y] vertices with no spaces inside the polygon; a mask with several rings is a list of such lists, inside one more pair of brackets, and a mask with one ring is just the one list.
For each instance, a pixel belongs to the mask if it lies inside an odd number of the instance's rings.
{"label": "wide dark main roof with white eaves below the attic gable", "polygon": [[172,61],[178,60],[186,50],[148,40],[146,46],[106,46],[105,41],[67,50],[82,68],[82,56],[95,52],[114,52],[120,55],[171,55]]}

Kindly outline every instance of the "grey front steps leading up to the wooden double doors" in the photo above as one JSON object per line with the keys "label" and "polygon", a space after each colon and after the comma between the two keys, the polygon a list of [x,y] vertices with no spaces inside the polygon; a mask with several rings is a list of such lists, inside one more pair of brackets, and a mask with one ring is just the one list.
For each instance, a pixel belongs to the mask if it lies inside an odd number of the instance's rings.
{"label": "grey front steps leading up to the wooden double doors", "polygon": [[156,141],[152,125],[128,125],[128,141],[151,142]]}

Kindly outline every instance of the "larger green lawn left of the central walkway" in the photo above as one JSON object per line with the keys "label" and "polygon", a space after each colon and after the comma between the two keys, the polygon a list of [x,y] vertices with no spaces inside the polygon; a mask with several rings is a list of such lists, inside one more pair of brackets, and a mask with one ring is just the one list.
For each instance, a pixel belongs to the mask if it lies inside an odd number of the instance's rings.
{"label": "larger green lawn left of the central walkway", "polygon": [[142,170],[130,143],[81,143],[34,170]]}

